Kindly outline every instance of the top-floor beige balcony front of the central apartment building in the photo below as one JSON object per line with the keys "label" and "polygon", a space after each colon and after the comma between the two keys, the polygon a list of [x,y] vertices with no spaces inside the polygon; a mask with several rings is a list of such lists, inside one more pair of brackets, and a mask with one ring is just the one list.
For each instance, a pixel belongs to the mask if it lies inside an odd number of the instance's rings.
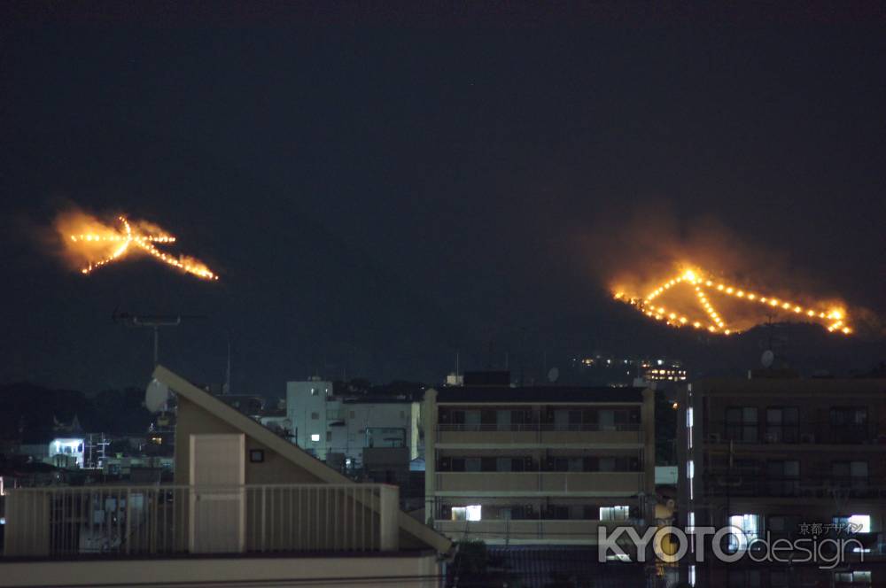
{"label": "top-floor beige balcony front of the central apartment building", "polygon": [[439,445],[638,445],[637,423],[598,424],[439,424]]}

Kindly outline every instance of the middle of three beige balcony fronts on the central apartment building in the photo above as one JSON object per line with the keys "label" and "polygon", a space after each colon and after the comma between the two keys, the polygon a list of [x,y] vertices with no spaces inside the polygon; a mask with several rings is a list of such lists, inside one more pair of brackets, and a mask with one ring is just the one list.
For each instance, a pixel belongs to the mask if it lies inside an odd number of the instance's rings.
{"label": "middle of three beige balcony fronts on the central apartment building", "polygon": [[643,490],[643,472],[439,472],[437,492],[566,493],[627,496]]}

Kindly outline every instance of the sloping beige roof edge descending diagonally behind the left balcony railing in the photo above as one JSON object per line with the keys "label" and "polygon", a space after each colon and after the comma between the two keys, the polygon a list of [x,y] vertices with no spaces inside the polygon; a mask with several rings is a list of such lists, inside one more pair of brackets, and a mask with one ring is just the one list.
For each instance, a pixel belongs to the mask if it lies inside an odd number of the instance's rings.
{"label": "sloping beige roof edge descending diagonally behind the left balcony railing", "polygon": [[[354,480],[342,476],[336,470],[324,464],[323,461],[317,460],[313,455],[301,449],[298,445],[292,445],[271,429],[264,427],[235,408],[231,408],[212,394],[200,390],[197,386],[166,367],[157,366],[154,368],[153,376],[160,382],[167,384],[179,396],[187,398],[190,402],[213,414],[216,418],[228,422],[229,425],[236,429],[240,429],[245,435],[253,437],[253,439],[274,450],[284,459],[290,460],[299,468],[305,469],[324,482],[329,484],[356,484]],[[403,511],[400,511],[399,522],[400,530],[404,530],[409,535],[423,541],[439,553],[448,553],[452,548],[452,542],[449,539]]]}

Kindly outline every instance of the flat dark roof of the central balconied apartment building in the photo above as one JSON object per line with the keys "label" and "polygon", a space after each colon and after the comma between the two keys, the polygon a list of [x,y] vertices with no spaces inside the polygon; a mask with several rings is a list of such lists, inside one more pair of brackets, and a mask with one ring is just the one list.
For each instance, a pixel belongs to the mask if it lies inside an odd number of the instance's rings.
{"label": "flat dark roof of the central balconied apartment building", "polygon": [[438,403],[557,403],[557,402],[625,402],[643,401],[642,388],[614,388],[610,386],[455,386],[439,388]]}

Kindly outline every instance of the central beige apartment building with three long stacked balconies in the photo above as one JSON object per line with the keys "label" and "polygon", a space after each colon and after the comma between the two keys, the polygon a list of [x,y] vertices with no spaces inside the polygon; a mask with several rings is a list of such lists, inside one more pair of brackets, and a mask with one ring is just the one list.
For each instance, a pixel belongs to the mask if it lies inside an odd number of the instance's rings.
{"label": "central beige apartment building with three long stacked balconies", "polygon": [[654,391],[463,386],[425,393],[425,512],[450,538],[594,545],[655,505]]}

